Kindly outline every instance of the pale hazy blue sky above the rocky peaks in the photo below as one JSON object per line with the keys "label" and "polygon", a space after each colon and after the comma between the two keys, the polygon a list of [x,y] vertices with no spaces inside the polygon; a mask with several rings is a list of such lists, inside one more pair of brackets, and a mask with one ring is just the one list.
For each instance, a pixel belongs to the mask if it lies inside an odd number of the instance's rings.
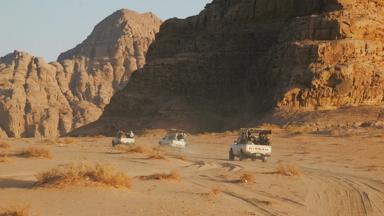
{"label": "pale hazy blue sky above the rocky peaks", "polygon": [[121,8],[152,11],[162,20],[198,14],[211,0],[1,0],[0,56],[26,51],[47,61],[82,42]]}

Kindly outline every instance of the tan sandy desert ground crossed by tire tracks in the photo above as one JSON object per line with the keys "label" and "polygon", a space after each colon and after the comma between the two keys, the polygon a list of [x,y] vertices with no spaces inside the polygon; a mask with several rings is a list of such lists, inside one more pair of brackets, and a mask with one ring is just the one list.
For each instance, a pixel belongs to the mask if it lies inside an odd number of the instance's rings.
{"label": "tan sandy desert ground crossed by tire tracks", "polygon": [[[71,144],[39,139],[0,140],[12,151],[48,149],[53,159],[9,158],[0,163],[0,207],[31,206],[37,215],[384,215],[383,130],[330,136],[279,131],[268,162],[228,161],[235,133],[190,136],[184,151],[167,160],[112,150],[111,138],[73,138]],[[159,134],[138,144],[156,146]],[[185,155],[187,161],[173,155]],[[106,187],[36,188],[34,175],[53,167],[90,162],[127,172],[131,189]],[[276,173],[290,164],[300,175]],[[142,181],[137,176],[176,170],[180,181]],[[244,173],[254,183],[238,180]],[[220,188],[217,195],[212,189]]]}

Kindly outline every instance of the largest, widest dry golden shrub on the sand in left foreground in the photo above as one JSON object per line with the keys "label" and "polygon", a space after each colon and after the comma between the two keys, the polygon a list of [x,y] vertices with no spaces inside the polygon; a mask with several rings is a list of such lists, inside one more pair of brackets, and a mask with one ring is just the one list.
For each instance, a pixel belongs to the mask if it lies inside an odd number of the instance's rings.
{"label": "largest, widest dry golden shrub on the sand in left foreground", "polygon": [[129,176],[105,165],[66,165],[35,175],[37,186],[64,188],[66,186],[112,186],[115,188],[130,188]]}

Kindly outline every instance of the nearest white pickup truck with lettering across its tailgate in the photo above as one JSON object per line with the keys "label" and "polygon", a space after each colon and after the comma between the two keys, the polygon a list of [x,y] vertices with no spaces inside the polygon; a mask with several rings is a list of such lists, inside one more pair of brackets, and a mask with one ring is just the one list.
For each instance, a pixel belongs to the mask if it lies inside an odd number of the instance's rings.
{"label": "nearest white pickup truck with lettering across its tailgate", "polygon": [[257,128],[241,129],[239,138],[230,146],[229,160],[239,157],[241,161],[251,158],[266,162],[272,154],[272,146],[268,138],[271,133],[271,130]]}

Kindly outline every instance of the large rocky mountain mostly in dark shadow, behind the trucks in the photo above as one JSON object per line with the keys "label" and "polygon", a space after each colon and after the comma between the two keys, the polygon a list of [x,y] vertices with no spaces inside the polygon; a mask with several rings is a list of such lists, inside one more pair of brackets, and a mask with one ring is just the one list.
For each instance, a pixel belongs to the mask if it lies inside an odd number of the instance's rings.
{"label": "large rocky mountain mostly in dark shadow, behind the trucks", "polygon": [[381,0],[214,0],[162,24],[147,64],[79,133],[225,130],[279,111],[384,104]]}

